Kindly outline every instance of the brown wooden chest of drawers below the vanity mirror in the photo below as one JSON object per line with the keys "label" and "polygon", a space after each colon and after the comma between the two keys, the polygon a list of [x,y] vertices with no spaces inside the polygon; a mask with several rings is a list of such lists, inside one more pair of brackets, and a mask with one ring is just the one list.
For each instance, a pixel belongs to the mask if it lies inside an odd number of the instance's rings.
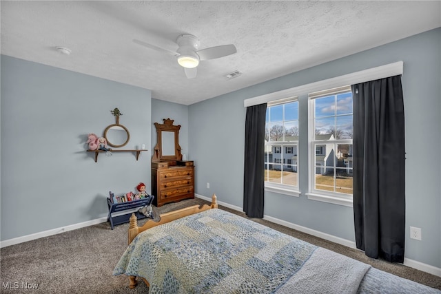
{"label": "brown wooden chest of drawers below the vanity mirror", "polygon": [[194,198],[193,161],[152,162],[152,195],[156,207]]}

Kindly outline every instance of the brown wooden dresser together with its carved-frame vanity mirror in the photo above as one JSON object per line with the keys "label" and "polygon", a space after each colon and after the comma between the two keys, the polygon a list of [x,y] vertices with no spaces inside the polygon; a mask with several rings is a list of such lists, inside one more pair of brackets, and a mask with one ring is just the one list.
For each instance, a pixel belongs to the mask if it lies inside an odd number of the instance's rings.
{"label": "brown wooden dresser together with its carved-frame vanity mirror", "polygon": [[163,120],[163,124],[154,123],[157,143],[152,156],[152,195],[156,207],[194,198],[194,162],[182,160],[181,125],[173,125],[170,118]]}

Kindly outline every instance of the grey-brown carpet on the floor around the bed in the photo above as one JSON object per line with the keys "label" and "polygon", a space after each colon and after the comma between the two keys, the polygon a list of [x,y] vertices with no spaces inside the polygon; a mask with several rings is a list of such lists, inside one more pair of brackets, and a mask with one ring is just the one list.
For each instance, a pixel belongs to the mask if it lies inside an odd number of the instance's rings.
{"label": "grey-brown carpet on the floor around the bed", "polygon": [[[180,209],[194,204],[207,204],[205,200],[183,200],[178,203],[154,207],[159,213]],[[244,213],[219,207],[240,216]],[[245,216],[246,217],[246,216]],[[366,262],[383,271],[441,289],[441,277],[430,275],[402,264],[372,260],[364,253],[346,246],[334,244],[287,227],[255,220],[296,238],[322,246]],[[145,222],[139,220],[141,226]],[[68,231],[58,235],[32,240],[0,250],[1,293],[148,293],[142,282],[130,290],[125,276],[114,277],[112,271],[127,247],[128,224],[110,229],[108,222]],[[38,284],[37,290],[23,288]],[[10,286],[11,289],[6,289]],[[17,288],[16,288],[17,287]]]}

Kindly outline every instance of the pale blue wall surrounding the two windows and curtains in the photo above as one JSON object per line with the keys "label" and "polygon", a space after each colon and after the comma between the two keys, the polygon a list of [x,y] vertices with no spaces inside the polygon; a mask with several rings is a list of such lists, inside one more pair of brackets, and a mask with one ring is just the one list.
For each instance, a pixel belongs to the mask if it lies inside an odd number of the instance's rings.
{"label": "pale blue wall surrounding the two windows and curtains", "polygon": [[[189,144],[196,193],[243,207],[247,98],[404,61],[406,128],[406,258],[441,267],[441,29],[411,36],[307,70],[189,106]],[[240,78],[240,77],[239,77]],[[299,98],[300,128],[307,126],[307,97]],[[300,197],[265,192],[265,216],[355,241],[351,207],[308,200],[307,132],[300,133]],[[302,172],[304,171],[304,172]],[[210,182],[207,189],[206,182]],[[409,238],[422,229],[422,241]]]}

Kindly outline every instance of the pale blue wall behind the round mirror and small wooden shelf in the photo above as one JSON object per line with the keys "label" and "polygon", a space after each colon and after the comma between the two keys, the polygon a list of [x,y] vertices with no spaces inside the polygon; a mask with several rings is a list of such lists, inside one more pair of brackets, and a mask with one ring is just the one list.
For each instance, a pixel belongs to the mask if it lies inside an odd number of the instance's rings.
{"label": "pale blue wall behind the round mirror and small wooden shelf", "polygon": [[121,149],[150,147],[150,90],[1,56],[2,241],[105,217],[108,191],[150,183],[150,152],[85,151],[115,107],[130,131]]}

